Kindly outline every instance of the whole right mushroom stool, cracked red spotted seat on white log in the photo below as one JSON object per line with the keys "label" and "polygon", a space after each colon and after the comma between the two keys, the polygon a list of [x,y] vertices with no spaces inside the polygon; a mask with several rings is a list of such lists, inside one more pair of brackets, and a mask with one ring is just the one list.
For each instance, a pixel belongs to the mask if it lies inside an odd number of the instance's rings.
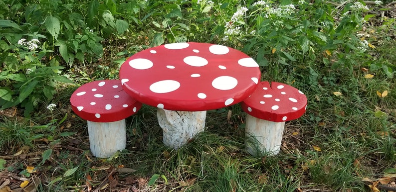
{"label": "whole right mushroom stool, cracked red spotted seat on white log", "polygon": [[292,86],[260,82],[241,102],[246,115],[246,149],[251,155],[276,155],[282,143],[285,121],[299,118],[307,109],[307,97]]}

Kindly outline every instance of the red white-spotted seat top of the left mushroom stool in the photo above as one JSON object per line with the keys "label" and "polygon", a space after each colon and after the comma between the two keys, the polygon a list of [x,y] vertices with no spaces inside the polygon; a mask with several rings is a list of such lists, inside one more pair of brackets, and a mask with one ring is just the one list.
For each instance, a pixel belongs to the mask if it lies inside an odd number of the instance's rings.
{"label": "red white-spotted seat top of the left mushroom stool", "polygon": [[142,103],[124,92],[120,80],[93,81],[79,87],[70,97],[71,108],[93,122],[113,122],[135,114]]}

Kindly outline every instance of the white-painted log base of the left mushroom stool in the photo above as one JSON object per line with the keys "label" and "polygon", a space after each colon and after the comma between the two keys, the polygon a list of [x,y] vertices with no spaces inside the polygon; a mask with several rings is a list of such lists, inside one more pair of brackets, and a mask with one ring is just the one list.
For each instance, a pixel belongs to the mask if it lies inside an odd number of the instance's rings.
{"label": "white-painted log base of the left mushroom stool", "polygon": [[108,123],[88,121],[88,135],[95,157],[111,157],[115,152],[125,149],[127,144],[125,119]]}

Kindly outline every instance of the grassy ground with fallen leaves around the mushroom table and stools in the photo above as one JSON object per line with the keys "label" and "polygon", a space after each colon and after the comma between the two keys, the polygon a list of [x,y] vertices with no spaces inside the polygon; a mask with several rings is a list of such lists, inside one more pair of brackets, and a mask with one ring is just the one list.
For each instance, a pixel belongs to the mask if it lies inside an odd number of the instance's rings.
{"label": "grassy ground with fallen leaves around the mushroom table and stools", "polygon": [[[43,192],[371,192],[370,186],[380,188],[376,182],[382,178],[389,180],[381,185],[393,187],[396,80],[372,66],[395,67],[396,42],[387,27],[393,30],[390,24],[373,34],[378,43],[368,54],[374,61],[357,58],[351,69],[302,63],[262,70],[263,80],[290,84],[308,98],[306,113],[286,122],[276,156],[246,152],[245,113],[238,104],[208,111],[205,131],[178,151],[164,146],[156,108],[144,105],[126,120],[127,148],[109,159],[95,158],[86,121],[70,108],[77,87],[59,85],[54,111],[45,109],[48,103],[40,103],[42,108],[30,119],[21,117],[20,108],[1,111],[0,175],[9,177],[1,176],[0,185],[16,176],[28,178],[29,185]],[[78,85],[118,78],[118,66],[104,64],[118,59],[113,57],[119,51],[115,47],[122,45],[113,43],[105,48],[111,58],[103,58],[102,65],[76,65],[67,75]],[[148,47],[146,40],[132,37],[118,43],[131,45],[130,53]],[[375,77],[365,78],[367,74]],[[381,95],[384,91],[387,96]],[[48,157],[46,150],[51,152]],[[36,172],[28,173],[27,166]],[[10,181],[10,189],[22,183]]]}

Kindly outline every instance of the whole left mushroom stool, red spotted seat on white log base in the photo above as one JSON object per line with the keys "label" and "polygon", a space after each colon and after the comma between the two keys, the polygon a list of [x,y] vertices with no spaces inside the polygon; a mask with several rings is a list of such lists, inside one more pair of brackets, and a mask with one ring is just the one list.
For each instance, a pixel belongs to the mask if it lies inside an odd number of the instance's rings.
{"label": "whole left mushroom stool, red spotted seat on white log base", "polygon": [[125,118],[142,103],[124,92],[120,80],[94,81],[79,87],[70,97],[73,111],[88,121],[91,152],[108,158],[125,149]]}

